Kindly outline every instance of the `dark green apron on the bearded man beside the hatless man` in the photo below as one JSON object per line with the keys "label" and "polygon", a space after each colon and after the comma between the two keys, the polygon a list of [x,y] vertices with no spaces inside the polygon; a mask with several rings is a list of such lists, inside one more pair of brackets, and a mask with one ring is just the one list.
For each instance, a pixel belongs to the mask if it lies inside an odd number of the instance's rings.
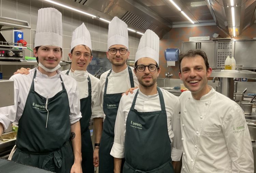
{"label": "dark green apron on the bearded man beside the hatless man", "polygon": [[162,92],[157,87],[160,111],[138,112],[134,109],[138,91],[126,121],[123,173],[174,173]]}

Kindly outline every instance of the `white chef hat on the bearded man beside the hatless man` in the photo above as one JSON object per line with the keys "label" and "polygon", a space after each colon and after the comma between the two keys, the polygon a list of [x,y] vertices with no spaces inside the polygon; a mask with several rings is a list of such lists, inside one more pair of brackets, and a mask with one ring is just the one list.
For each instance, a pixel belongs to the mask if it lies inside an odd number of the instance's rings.
{"label": "white chef hat on the bearded man beside the hatless man", "polygon": [[135,62],[143,57],[154,59],[159,65],[159,37],[151,30],[146,30],[140,39]]}

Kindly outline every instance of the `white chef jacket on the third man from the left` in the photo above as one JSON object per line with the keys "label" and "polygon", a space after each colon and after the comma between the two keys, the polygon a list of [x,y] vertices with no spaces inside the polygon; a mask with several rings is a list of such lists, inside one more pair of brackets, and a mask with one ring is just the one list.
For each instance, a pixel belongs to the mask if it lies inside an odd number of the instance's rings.
{"label": "white chef jacket on the third man from the left", "polygon": [[[133,81],[134,81],[134,87],[139,86],[138,79],[136,75],[133,72],[133,67],[130,67],[133,75]],[[100,76],[100,88],[101,88],[101,97],[102,97],[102,106],[103,106],[103,95],[104,95],[104,89],[105,89],[105,82],[106,82],[106,76],[108,75],[110,70],[104,72]],[[125,70],[120,71],[118,73],[115,73],[113,70],[111,71],[111,74],[108,77],[108,87],[107,87],[107,94],[115,94],[115,93],[121,93],[127,91],[129,88],[131,88],[130,84],[130,76],[128,72],[128,67],[126,67]],[[104,118],[105,118],[105,114]]]}

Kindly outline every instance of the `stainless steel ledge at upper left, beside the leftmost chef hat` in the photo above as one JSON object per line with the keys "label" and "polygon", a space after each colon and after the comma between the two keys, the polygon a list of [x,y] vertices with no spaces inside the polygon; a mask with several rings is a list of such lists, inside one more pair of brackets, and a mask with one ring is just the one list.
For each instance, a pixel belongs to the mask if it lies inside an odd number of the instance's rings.
{"label": "stainless steel ledge at upper left, beside the leftmost chef hat", "polygon": [[28,22],[23,20],[0,17],[0,31],[31,29]]}

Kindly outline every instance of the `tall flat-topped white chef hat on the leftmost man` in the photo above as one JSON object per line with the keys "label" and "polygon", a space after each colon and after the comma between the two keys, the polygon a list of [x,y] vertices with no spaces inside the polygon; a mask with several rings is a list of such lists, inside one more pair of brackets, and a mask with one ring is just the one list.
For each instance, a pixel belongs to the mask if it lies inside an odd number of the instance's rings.
{"label": "tall flat-topped white chef hat on the leftmost man", "polygon": [[35,47],[46,45],[62,48],[62,15],[55,8],[38,10]]}

